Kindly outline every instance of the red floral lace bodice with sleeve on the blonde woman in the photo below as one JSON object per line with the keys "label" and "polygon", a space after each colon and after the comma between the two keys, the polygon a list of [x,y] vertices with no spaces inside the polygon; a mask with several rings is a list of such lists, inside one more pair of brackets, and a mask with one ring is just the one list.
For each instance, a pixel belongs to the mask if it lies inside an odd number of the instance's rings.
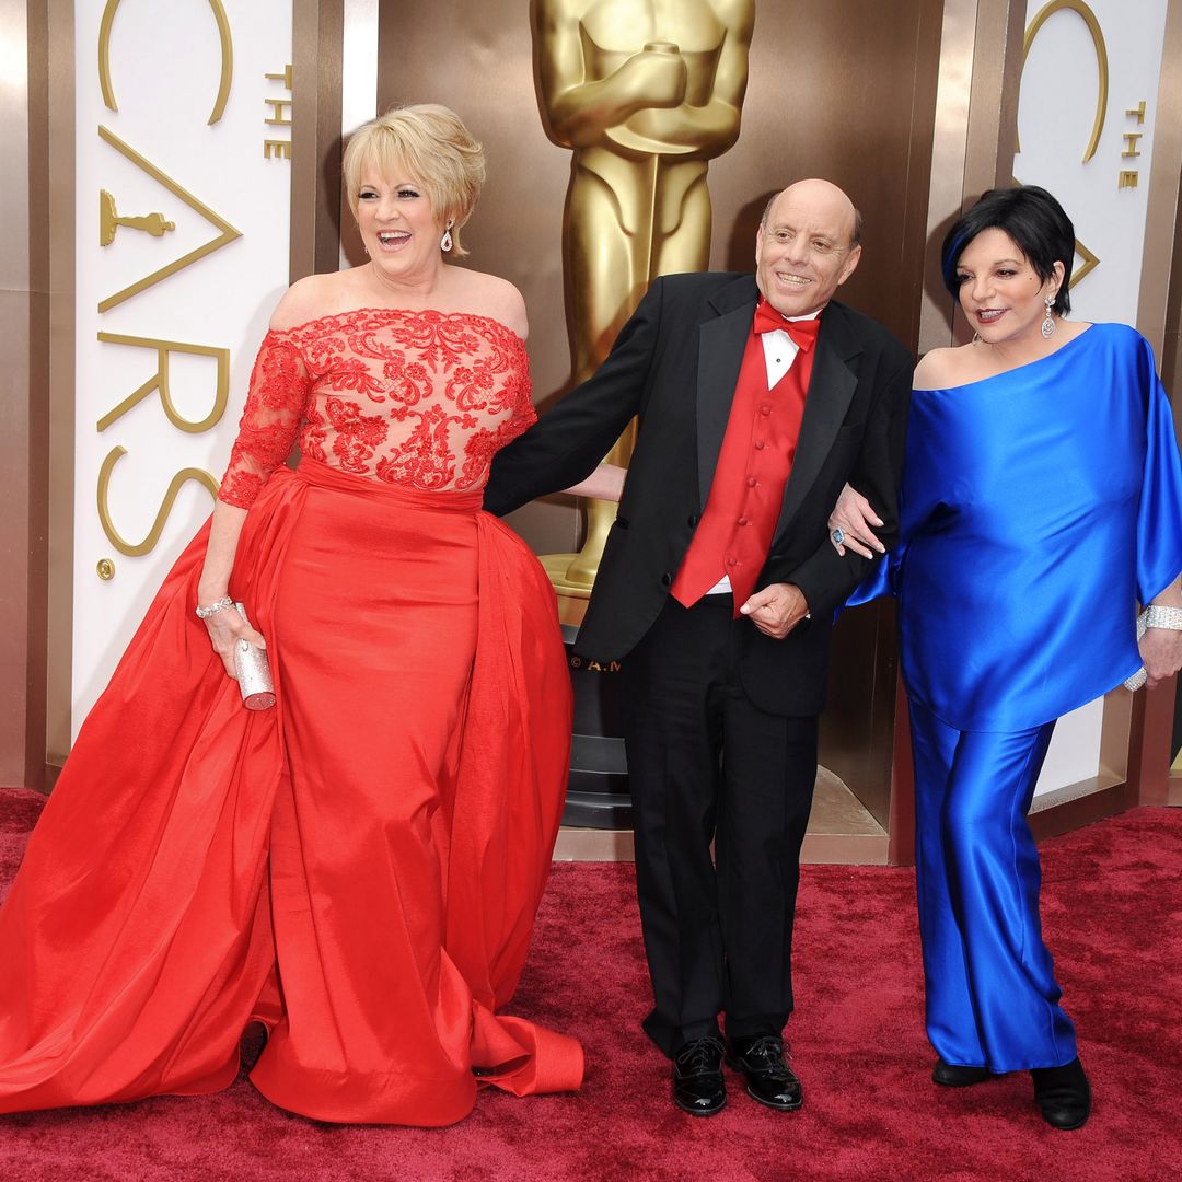
{"label": "red floral lace bodice with sleeve on the blonde woman", "polygon": [[534,422],[525,344],[472,312],[358,309],[262,340],[222,478],[249,508],[291,454],[413,488],[472,489]]}

